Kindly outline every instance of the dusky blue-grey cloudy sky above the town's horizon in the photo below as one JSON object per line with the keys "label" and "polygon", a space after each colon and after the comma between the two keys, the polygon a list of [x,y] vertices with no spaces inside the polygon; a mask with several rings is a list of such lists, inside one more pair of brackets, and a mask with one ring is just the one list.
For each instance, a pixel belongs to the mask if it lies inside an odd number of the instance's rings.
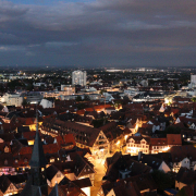
{"label": "dusky blue-grey cloudy sky above the town's horizon", "polygon": [[196,65],[195,0],[0,0],[0,65]]}

